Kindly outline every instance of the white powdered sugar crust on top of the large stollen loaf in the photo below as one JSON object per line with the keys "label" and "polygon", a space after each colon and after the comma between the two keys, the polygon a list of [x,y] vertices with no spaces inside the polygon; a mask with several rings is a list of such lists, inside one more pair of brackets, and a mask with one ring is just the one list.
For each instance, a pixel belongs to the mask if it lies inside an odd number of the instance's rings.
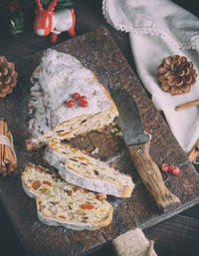
{"label": "white powdered sugar crust on top of the large stollen loaf", "polygon": [[[49,133],[64,121],[90,114],[98,114],[113,107],[94,73],[73,56],[49,49],[40,66],[33,73],[32,99],[29,104],[32,119],[29,128],[32,140]],[[74,93],[86,96],[89,106],[78,101],[68,108],[66,101]]]}

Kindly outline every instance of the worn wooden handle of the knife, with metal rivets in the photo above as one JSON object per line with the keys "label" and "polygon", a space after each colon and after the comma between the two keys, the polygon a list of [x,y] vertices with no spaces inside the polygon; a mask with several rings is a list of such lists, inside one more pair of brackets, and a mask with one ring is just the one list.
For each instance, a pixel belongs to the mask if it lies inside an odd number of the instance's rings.
{"label": "worn wooden handle of the knife, with metal rivets", "polygon": [[157,164],[149,154],[150,140],[144,144],[128,146],[133,163],[146,189],[152,194],[159,209],[170,211],[180,205],[180,199],[172,194],[164,184]]}

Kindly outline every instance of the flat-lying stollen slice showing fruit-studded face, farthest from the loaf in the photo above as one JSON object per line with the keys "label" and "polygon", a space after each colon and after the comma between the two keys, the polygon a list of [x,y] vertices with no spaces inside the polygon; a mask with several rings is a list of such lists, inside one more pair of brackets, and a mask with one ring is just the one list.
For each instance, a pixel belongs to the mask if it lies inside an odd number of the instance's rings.
{"label": "flat-lying stollen slice showing fruit-studded face, farthest from the loaf", "polygon": [[72,185],[40,165],[25,166],[22,184],[36,198],[38,218],[45,224],[95,230],[111,222],[113,209],[104,194]]}

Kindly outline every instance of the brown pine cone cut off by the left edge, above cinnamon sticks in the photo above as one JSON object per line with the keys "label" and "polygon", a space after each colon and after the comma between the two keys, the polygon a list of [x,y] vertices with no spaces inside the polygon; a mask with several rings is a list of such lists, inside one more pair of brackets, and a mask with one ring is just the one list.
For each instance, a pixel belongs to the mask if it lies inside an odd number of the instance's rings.
{"label": "brown pine cone cut off by the left edge, above cinnamon sticks", "polygon": [[8,62],[4,56],[0,56],[0,98],[11,94],[17,84],[18,74],[14,69],[14,63]]}

